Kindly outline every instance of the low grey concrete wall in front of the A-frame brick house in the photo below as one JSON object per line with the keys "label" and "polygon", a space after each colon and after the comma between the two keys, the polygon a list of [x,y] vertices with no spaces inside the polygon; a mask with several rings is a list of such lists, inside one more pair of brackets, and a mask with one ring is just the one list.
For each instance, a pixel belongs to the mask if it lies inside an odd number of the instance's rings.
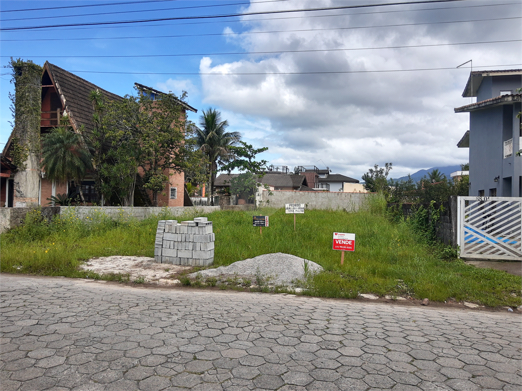
{"label": "low grey concrete wall in front of the A-frame brick house", "polygon": [[[5,232],[10,228],[21,225],[25,219],[27,212],[32,208],[29,207],[2,207],[0,208],[0,233]],[[132,217],[138,220],[146,219],[152,215],[158,215],[162,212],[168,211],[173,216],[181,216],[184,213],[211,213],[218,211],[219,206],[170,206],[170,207],[153,207],[153,206],[43,206],[40,208],[42,215],[48,220],[54,215],[68,214],[74,210],[76,215],[85,219],[92,213],[100,211],[105,215],[118,219],[125,217]]]}

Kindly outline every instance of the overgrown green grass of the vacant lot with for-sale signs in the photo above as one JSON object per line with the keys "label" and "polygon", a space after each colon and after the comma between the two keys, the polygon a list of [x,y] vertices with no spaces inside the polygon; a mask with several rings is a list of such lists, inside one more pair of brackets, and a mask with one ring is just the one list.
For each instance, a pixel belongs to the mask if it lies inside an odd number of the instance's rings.
{"label": "overgrown green grass of the vacant lot with for-sale signs", "polygon": [[[270,227],[252,227],[252,215],[269,215]],[[206,214],[216,233],[215,265],[229,265],[272,252],[289,253],[321,264],[306,294],[324,297],[356,297],[358,293],[402,295],[434,301],[466,300],[487,306],[519,306],[520,277],[502,271],[479,269],[457,259],[443,260],[440,247],[429,246],[408,223],[389,222],[382,202],[357,213],[307,210],[293,215],[284,210],[255,212],[219,211]],[[181,221],[194,215],[174,217]],[[35,209],[25,226],[1,237],[0,271],[67,277],[100,278],[78,270],[95,256],[153,256],[158,219],[134,221],[121,217],[110,221],[93,209],[86,221],[73,214],[42,222]],[[333,232],[356,235],[355,252],[331,250]]]}

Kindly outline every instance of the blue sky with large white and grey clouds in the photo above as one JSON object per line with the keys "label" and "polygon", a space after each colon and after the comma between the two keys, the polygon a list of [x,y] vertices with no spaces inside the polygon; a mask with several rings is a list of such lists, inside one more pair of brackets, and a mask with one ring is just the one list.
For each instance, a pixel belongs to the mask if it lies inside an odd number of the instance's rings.
{"label": "blue sky with large white and grey clouds", "polygon": [[[189,119],[215,107],[246,142],[268,146],[263,158],[291,170],[329,166],[360,179],[392,162],[397,178],[466,163],[468,150],[456,144],[469,118],[453,108],[471,103],[461,97],[470,64],[456,67],[470,59],[474,70],[522,63],[520,0],[106,5],[114,3],[2,0],[2,65],[9,57],[49,60],[120,95],[133,93],[134,82],[187,91],[198,109]],[[239,15],[93,25],[232,14]],[[35,26],[53,27],[6,30]],[[3,69],[2,143],[11,131],[9,79]]]}

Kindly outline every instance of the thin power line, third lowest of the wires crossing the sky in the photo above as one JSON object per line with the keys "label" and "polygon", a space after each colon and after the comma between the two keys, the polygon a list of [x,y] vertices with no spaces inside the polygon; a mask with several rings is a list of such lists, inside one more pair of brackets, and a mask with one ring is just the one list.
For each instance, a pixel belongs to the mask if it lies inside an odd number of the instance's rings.
{"label": "thin power line, third lowest of the wires crossing the sky", "polygon": [[[307,32],[307,31],[331,31],[331,30],[355,30],[355,29],[370,29],[381,27],[402,27],[402,26],[423,26],[423,25],[441,25],[447,23],[468,23],[468,22],[485,22],[494,20],[509,20],[522,19],[520,16],[509,18],[494,18],[494,19],[472,19],[472,20],[452,20],[444,22],[426,22],[426,23],[402,23],[399,25],[381,25],[381,26],[359,26],[359,27],[335,27],[330,29],[302,29],[302,30],[272,30],[272,31],[243,31],[238,33],[208,33],[208,34],[179,34],[179,35],[152,35],[152,36],[109,36],[105,38],[44,38],[44,39],[30,39],[30,41],[96,41],[96,40],[118,40],[118,39],[148,39],[148,38],[190,38],[196,36],[217,36],[217,35],[238,35],[238,34],[267,34],[267,33],[284,33],[284,32]],[[4,42],[23,42],[23,40],[2,40]]]}

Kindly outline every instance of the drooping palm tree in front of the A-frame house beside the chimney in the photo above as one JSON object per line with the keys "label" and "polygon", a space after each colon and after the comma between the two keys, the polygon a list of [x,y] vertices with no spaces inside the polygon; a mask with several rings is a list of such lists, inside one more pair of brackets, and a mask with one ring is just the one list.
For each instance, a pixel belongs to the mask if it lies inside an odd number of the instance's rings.
{"label": "drooping palm tree in front of the A-frame house beside the chimney", "polygon": [[92,168],[91,155],[82,143],[80,135],[75,133],[66,116],[60,120],[61,126],[53,128],[42,137],[42,167],[50,180],[60,184],[73,181],[80,192],[81,201],[85,205],[81,191],[81,180],[87,170]]}

